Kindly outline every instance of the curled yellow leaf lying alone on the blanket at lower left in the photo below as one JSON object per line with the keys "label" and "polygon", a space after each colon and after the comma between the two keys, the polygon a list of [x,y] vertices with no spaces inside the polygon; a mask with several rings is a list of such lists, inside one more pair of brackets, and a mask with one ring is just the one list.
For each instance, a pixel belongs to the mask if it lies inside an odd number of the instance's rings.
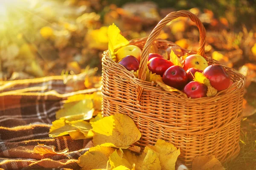
{"label": "curled yellow leaf lying alone on the blanket at lower left", "polygon": [[60,150],[58,152],[55,151],[55,146],[52,145],[44,145],[44,144],[38,144],[37,146],[34,147],[34,153],[39,153],[39,154],[64,154],[67,153],[68,148],[65,148],[64,150]]}

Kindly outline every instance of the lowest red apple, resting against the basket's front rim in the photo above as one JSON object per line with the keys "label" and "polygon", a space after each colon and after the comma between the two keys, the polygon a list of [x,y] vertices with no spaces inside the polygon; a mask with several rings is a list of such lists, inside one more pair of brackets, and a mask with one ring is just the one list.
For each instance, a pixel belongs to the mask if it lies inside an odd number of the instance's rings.
{"label": "lowest red apple, resting against the basket's front rim", "polygon": [[192,99],[206,97],[207,86],[200,82],[189,82],[183,89],[183,92]]}

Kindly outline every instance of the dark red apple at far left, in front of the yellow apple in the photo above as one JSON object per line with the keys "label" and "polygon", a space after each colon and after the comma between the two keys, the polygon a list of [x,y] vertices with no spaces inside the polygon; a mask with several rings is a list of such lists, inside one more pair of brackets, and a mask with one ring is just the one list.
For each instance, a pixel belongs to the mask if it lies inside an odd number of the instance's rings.
{"label": "dark red apple at far left, in front of the yellow apple", "polygon": [[129,71],[137,71],[140,66],[140,63],[138,62],[137,58],[131,55],[124,57],[118,63],[125,66],[125,68]]}

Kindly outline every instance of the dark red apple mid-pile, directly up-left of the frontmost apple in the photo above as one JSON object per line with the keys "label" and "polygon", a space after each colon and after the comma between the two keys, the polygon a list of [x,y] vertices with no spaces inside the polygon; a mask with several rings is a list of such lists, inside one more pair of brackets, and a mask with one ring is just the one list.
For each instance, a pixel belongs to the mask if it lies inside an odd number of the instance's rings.
{"label": "dark red apple mid-pile, directly up-left of the frontmost apple", "polygon": [[188,76],[182,67],[174,65],[164,72],[163,82],[166,85],[181,90],[187,84]]}

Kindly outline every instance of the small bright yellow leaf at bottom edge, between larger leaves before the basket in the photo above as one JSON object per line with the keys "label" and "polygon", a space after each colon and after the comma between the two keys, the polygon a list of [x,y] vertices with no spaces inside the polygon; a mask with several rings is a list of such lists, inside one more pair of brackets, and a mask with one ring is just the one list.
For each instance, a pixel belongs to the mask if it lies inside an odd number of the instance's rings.
{"label": "small bright yellow leaf at bottom edge, between larger leaves before the basket", "polygon": [[128,162],[126,159],[123,159],[117,151],[115,150],[110,156],[109,156],[109,163],[111,164],[111,168],[118,167],[120,165],[131,168],[132,164],[131,162]]}

